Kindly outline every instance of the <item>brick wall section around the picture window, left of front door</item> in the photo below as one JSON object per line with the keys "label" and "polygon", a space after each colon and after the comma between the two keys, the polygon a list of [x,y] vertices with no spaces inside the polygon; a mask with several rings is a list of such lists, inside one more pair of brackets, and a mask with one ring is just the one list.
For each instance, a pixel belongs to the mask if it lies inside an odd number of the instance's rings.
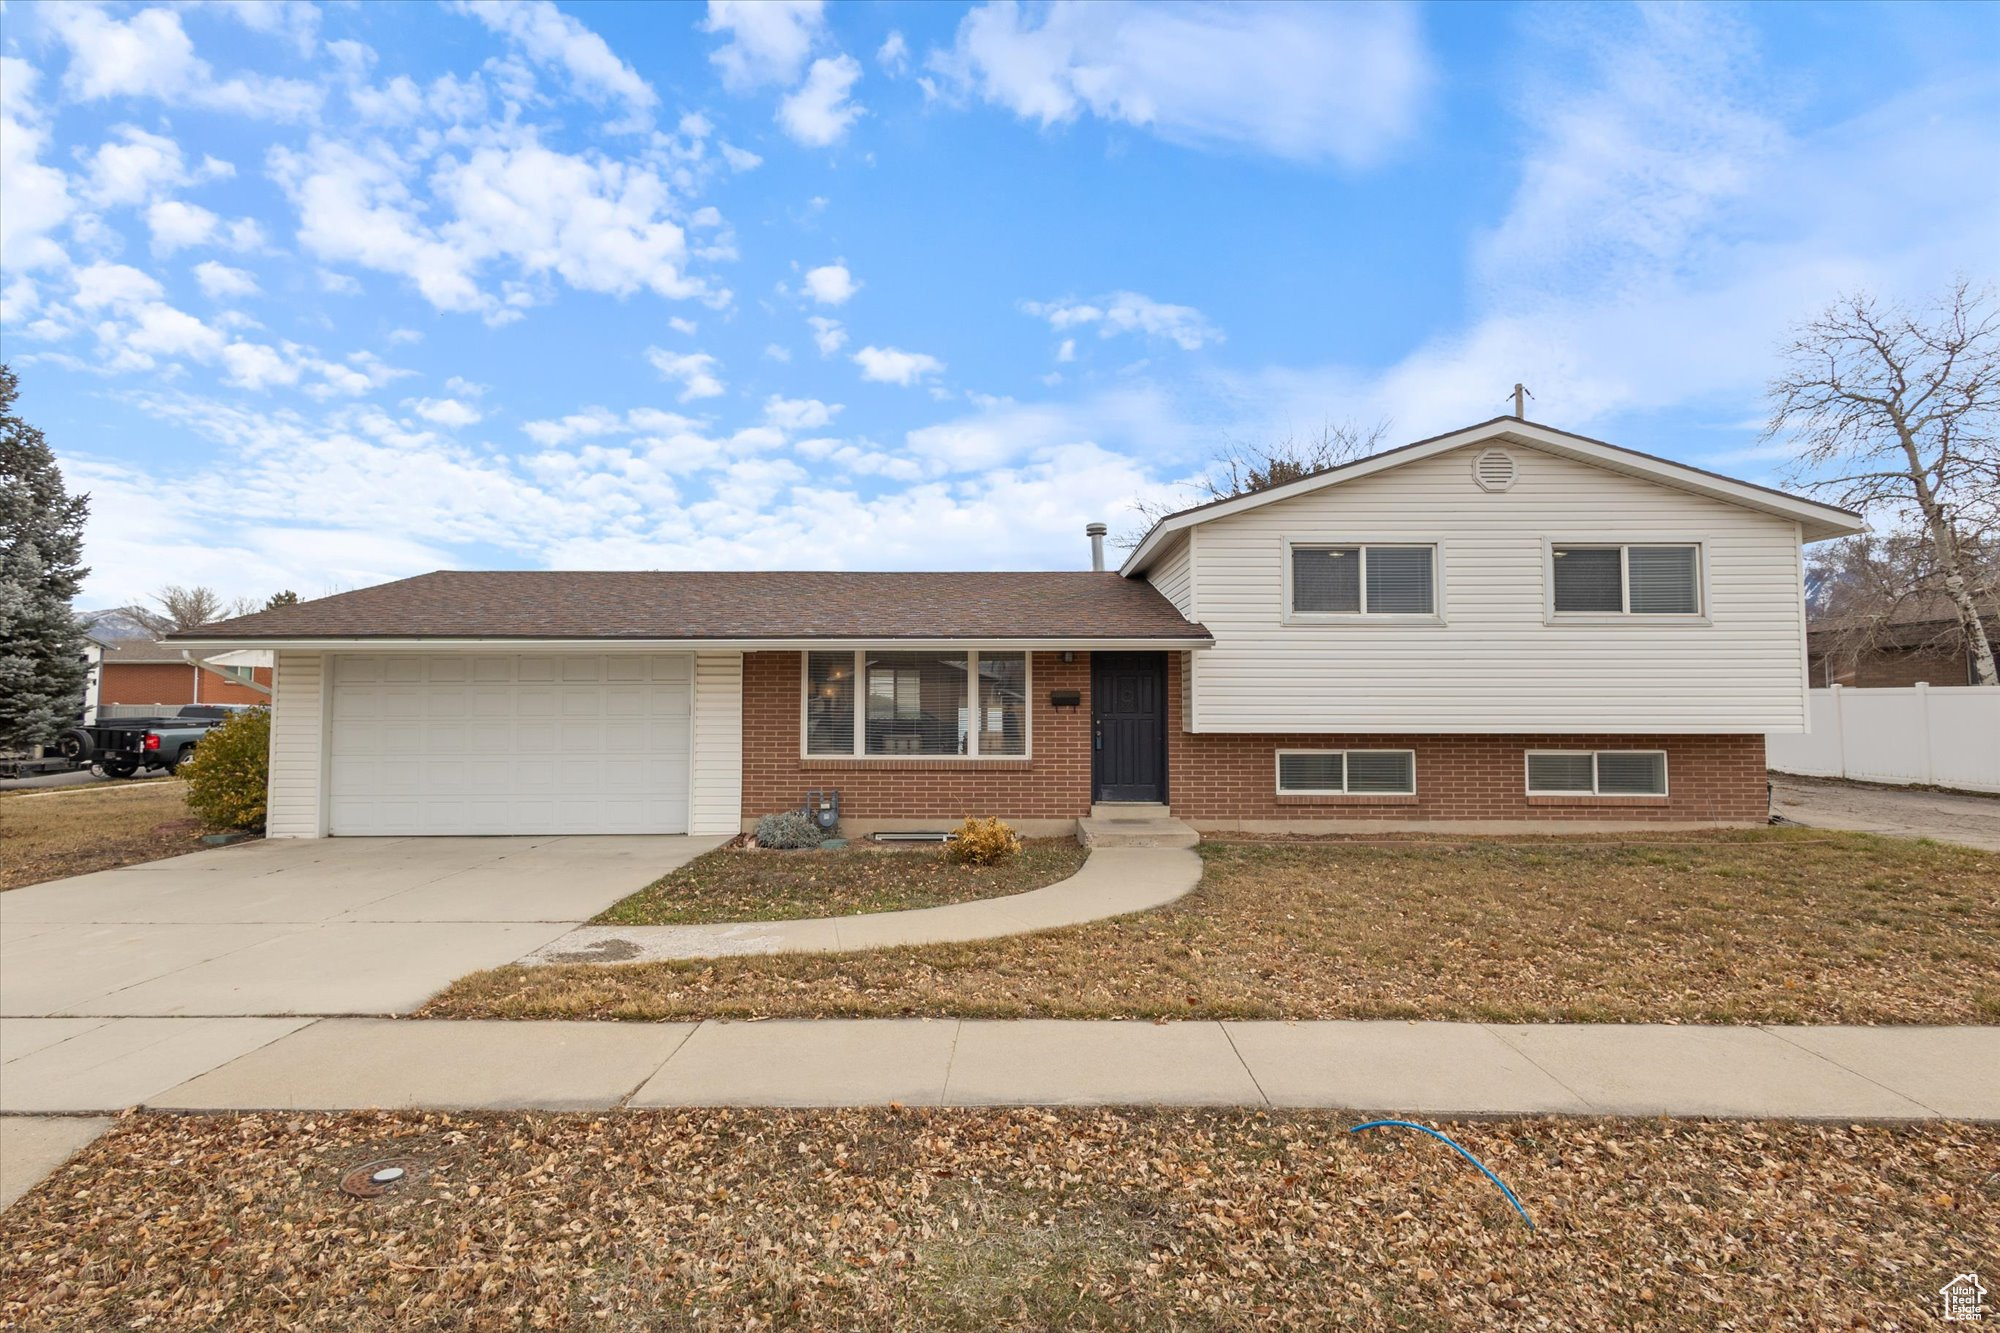
{"label": "brick wall section around the picture window, left of front door", "polygon": [[[1078,819],[1090,813],[1090,654],[1034,652],[1028,759],[802,759],[798,652],[744,652],[744,819],[796,809],[808,787],[838,787],[858,821]],[[1080,691],[1056,711],[1050,691]]]}

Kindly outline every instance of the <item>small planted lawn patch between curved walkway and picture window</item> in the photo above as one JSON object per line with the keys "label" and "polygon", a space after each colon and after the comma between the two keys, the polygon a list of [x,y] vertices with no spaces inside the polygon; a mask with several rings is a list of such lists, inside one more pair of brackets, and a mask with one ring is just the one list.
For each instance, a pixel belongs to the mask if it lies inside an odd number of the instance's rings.
{"label": "small planted lawn patch between curved walkway and picture window", "polygon": [[796,921],[944,907],[1026,893],[1076,875],[1072,839],[1024,843],[1004,865],[948,865],[936,847],[850,845],[834,851],[744,851],[696,857],[598,915],[602,925]]}

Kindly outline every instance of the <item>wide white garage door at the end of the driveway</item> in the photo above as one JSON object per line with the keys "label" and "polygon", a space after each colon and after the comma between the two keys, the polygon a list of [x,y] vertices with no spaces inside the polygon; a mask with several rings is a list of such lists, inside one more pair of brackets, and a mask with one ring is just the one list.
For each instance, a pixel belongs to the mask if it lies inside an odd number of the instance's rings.
{"label": "wide white garage door at the end of the driveway", "polygon": [[336,835],[688,831],[688,656],[332,666]]}

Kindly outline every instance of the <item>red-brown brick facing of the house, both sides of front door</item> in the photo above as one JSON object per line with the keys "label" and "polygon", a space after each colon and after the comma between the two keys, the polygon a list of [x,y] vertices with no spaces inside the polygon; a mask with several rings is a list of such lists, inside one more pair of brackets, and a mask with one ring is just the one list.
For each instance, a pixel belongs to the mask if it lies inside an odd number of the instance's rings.
{"label": "red-brown brick facing of the house, both sides of front door", "polygon": [[[744,821],[838,787],[858,827],[1000,815],[1068,821],[1090,811],[1090,654],[1036,652],[1032,751],[1018,759],[800,759],[800,654],[744,654]],[[1050,691],[1078,691],[1056,711]],[[1180,654],[1168,654],[1168,803],[1196,827],[1762,823],[1764,737],[1380,737],[1192,735],[1182,731]],[[1414,797],[1280,797],[1280,749],[1416,751]],[[1530,797],[1524,751],[1666,751],[1666,797]]]}

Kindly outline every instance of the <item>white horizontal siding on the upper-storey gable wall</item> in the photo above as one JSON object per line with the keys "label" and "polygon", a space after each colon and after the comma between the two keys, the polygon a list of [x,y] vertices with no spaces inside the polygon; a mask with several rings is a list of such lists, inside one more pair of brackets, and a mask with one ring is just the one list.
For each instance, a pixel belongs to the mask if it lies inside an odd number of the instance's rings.
{"label": "white horizontal siding on the upper-storey gable wall", "polygon": [[[1198,658],[1202,733],[1802,731],[1798,528],[1724,500],[1510,444],[1506,492],[1456,450],[1200,526],[1194,580],[1216,646]],[[1438,616],[1370,630],[1288,614],[1300,542],[1436,538]],[[1700,618],[1548,614],[1556,542],[1698,540]],[[1554,620],[1554,622],[1550,622]],[[1354,622],[1354,620],[1350,620]],[[1442,624],[1440,624],[1442,622]]]}

